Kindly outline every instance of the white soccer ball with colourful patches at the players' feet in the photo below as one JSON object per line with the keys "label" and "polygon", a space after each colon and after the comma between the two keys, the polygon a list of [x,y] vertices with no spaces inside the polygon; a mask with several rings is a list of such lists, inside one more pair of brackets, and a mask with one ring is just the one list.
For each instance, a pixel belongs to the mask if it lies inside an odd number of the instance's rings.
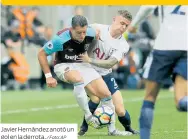
{"label": "white soccer ball with colourful patches at the players' feet", "polygon": [[98,125],[100,127],[104,127],[111,123],[111,118],[113,116],[113,110],[108,106],[100,106],[98,107],[93,116],[97,118]]}

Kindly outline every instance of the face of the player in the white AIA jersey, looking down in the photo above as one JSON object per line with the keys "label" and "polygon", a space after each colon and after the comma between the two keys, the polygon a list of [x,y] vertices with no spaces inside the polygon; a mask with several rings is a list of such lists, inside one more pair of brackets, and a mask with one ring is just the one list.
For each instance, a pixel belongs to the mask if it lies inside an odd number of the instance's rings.
{"label": "face of the player in the white AIA jersey, looking down", "polygon": [[127,30],[130,23],[131,21],[123,16],[116,16],[113,22],[116,33],[123,34]]}

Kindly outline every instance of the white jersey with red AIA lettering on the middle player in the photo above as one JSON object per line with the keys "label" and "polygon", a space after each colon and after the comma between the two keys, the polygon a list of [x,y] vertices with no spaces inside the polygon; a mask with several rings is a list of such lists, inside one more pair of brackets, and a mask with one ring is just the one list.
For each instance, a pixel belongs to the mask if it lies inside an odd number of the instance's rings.
{"label": "white jersey with red AIA lettering on the middle player", "polygon": [[[110,35],[110,25],[93,24],[94,28],[100,30],[100,40],[94,42],[92,47],[88,50],[88,54],[94,59],[107,60],[111,57],[120,61],[129,51],[129,45],[123,36],[117,39]],[[100,75],[104,76],[112,72],[112,69],[100,68],[93,66]]]}

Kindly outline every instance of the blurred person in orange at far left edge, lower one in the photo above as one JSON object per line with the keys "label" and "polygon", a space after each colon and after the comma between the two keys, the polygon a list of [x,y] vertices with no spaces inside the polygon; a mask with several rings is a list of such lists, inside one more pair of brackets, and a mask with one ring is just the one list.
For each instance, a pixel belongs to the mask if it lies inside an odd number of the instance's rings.
{"label": "blurred person in orange at far left edge, lower one", "polygon": [[1,43],[5,45],[8,53],[8,57],[1,62],[2,91],[9,89],[9,81],[11,81],[12,87],[16,87],[14,83],[19,86],[24,85],[29,76],[29,65],[24,55],[14,49],[22,45],[17,28],[18,26],[12,26],[10,30],[4,30],[4,33],[1,34]]}

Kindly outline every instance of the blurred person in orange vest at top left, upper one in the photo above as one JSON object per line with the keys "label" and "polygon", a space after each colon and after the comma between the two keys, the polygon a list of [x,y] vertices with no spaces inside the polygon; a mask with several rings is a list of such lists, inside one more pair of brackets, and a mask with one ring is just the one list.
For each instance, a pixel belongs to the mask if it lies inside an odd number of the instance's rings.
{"label": "blurred person in orange vest at top left, upper one", "polygon": [[44,33],[44,26],[38,19],[38,7],[17,7],[11,10],[8,18],[8,25],[11,27],[15,23],[18,25],[18,32],[22,39],[27,39],[29,42],[41,45],[40,34]]}

